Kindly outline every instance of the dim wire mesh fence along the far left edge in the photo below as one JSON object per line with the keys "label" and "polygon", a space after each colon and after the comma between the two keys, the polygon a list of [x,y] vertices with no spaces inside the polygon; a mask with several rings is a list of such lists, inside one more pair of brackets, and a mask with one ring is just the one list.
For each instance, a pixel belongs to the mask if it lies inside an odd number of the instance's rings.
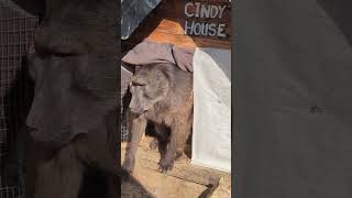
{"label": "dim wire mesh fence along the far left edge", "polygon": [[0,0],[0,197],[21,196],[18,134],[29,109],[24,57],[37,19],[9,0]]}

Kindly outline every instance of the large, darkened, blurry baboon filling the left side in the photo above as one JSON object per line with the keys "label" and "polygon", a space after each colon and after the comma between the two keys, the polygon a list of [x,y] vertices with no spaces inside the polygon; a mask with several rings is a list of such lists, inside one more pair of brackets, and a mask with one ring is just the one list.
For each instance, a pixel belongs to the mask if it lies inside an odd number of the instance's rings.
{"label": "large, darkened, blurry baboon filling the left side", "polygon": [[26,198],[118,197],[118,2],[15,2],[40,18],[28,58]]}

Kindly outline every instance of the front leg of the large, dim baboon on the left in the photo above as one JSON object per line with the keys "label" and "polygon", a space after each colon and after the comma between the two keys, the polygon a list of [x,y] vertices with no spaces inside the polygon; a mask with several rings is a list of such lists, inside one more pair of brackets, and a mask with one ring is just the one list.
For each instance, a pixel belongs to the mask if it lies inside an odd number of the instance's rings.
{"label": "front leg of the large, dim baboon on the left", "polygon": [[37,167],[34,198],[77,198],[84,166],[73,145],[58,151]]}

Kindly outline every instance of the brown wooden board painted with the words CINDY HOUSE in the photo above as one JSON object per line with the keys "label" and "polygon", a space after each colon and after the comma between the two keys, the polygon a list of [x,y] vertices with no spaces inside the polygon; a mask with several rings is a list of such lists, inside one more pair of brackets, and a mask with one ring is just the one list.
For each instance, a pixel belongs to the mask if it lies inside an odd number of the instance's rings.
{"label": "brown wooden board painted with the words CINDY HOUSE", "polygon": [[[216,35],[211,34],[210,24],[212,29],[221,26]],[[191,30],[191,25],[196,29]],[[202,33],[199,26],[205,28]],[[186,48],[231,48],[231,3],[228,0],[164,0],[132,34],[130,42],[136,44],[144,38]]]}

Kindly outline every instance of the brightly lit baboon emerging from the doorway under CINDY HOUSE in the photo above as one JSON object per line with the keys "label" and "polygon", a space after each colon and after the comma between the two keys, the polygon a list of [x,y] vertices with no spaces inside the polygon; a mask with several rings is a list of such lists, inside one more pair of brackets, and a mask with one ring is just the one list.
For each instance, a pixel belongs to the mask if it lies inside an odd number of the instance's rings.
{"label": "brightly lit baboon emerging from the doorway under CINDY HOUSE", "polygon": [[193,127],[193,75],[173,64],[151,64],[138,68],[131,81],[131,140],[122,166],[133,173],[138,145],[151,121],[165,151],[158,169],[170,170]]}

